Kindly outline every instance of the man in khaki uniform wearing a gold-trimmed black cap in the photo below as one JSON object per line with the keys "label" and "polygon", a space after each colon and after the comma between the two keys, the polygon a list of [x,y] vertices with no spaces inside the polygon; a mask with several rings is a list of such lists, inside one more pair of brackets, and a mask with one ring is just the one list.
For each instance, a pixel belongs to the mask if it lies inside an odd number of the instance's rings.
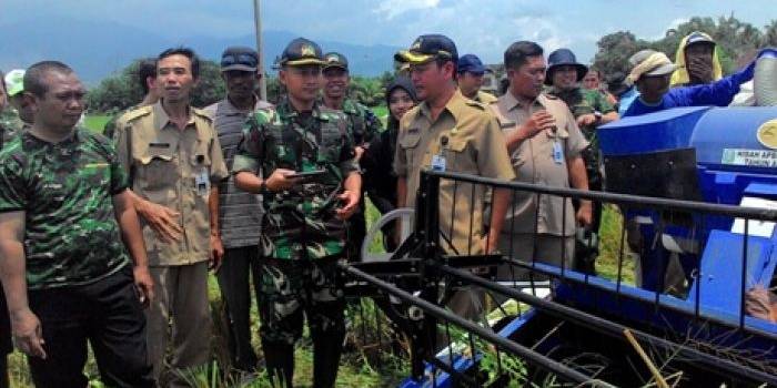
{"label": "man in khaki uniform wearing a gold-trimmed black cap", "polygon": [[[456,47],[447,37],[418,37],[410,50],[395,55],[410,63],[411,78],[423,100],[400,122],[394,170],[398,207],[414,206],[423,169],[435,169],[509,181],[504,137],[485,105],[465,99],[455,84]],[[473,198],[474,193],[474,198]],[[455,196],[454,196],[455,195]],[[509,192],[494,193],[491,229],[483,231],[485,187],[443,180],[440,185],[441,244],[453,255],[485,254],[496,248]],[[463,290],[450,303],[465,317],[482,310],[482,293]]]}

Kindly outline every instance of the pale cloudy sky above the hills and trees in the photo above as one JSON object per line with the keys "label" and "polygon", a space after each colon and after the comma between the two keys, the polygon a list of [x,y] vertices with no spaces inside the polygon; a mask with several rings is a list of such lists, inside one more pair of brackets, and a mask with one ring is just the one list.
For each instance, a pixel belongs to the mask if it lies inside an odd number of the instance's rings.
{"label": "pale cloudy sky above the hills and trees", "polygon": [[[662,37],[693,16],[730,14],[758,28],[777,19],[775,1],[734,0],[263,0],[264,28],[313,40],[408,45],[421,33],[453,38],[460,54],[500,62],[516,40],[546,50],[571,48],[587,62],[605,33],[630,30]],[[245,35],[253,31],[252,0],[0,0],[0,24],[100,19],[181,39]],[[67,33],[67,25],[62,25]],[[6,44],[0,34],[0,50]],[[278,53],[265,53],[275,55]],[[390,60],[390,59],[387,59]]]}

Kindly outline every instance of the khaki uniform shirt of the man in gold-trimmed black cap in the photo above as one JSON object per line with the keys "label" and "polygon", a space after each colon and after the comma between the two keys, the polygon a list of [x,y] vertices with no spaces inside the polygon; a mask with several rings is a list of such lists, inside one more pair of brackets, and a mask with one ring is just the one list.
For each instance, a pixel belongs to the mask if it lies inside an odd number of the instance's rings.
{"label": "khaki uniform shirt of the man in gold-trimmed black cap", "polygon": [[[425,102],[408,111],[400,123],[394,171],[407,180],[407,206],[415,205],[421,170],[434,155],[445,170],[509,181],[515,177],[498,124],[484,104],[456,92],[432,121]],[[473,198],[474,194],[474,198]],[[440,184],[441,244],[450,253],[482,254],[485,187],[442,180]],[[451,241],[455,249],[451,249]]]}

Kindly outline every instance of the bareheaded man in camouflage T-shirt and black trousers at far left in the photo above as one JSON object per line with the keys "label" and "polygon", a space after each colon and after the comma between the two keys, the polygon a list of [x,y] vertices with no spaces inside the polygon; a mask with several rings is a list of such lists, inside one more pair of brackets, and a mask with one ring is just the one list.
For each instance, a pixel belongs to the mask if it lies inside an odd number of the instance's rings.
{"label": "bareheaded man in camouflage T-shirt and black trousers at far left", "polygon": [[75,125],[85,90],[70,68],[33,64],[24,90],[34,124],[0,151],[14,343],[38,387],[85,387],[88,340],[105,385],[153,387],[142,310],[153,283],[127,175],[104,137]]}

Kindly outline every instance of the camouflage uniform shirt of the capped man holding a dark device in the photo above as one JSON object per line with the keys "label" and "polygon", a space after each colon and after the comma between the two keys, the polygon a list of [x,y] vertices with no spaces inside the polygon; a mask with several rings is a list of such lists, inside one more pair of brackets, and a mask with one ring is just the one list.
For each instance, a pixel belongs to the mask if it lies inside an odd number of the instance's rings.
{"label": "camouflage uniform shirt of the capped man holding a dark device", "polygon": [[274,110],[249,116],[232,172],[270,176],[275,169],[326,173],[299,186],[265,193],[260,254],[279,259],[323,258],[342,255],[345,223],[334,216],[337,194],[349,174],[359,171],[345,115],[316,104],[309,114],[287,101]]}

